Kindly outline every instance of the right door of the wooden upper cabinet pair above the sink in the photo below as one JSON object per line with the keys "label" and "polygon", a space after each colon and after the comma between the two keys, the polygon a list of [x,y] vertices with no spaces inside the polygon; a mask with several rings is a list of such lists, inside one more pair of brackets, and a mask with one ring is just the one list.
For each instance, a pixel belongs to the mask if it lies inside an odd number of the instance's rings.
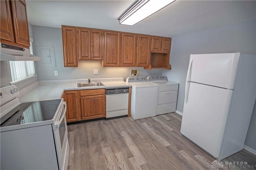
{"label": "right door of the wooden upper cabinet pair above the sink", "polygon": [[93,60],[102,60],[102,31],[91,30],[91,55]]}

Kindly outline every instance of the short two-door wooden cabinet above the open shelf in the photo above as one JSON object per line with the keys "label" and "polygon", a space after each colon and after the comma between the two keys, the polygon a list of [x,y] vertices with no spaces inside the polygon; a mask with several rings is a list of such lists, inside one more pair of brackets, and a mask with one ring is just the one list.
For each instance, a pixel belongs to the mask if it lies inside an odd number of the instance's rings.
{"label": "short two-door wooden cabinet above the open shelf", "polygon": [[153,52],[170,52],[171,38],[153,37],[151,40],[151,51]]}

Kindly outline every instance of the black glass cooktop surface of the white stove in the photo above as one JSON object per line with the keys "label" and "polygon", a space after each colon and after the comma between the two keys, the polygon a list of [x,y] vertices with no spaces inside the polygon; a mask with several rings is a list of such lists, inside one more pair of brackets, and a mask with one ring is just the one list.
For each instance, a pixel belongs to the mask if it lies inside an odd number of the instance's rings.
{"label": "black glass cooktop surface of the white stove", "polygon": [[21,103],[1,118],[1,127],[53,119],[61,99]]}

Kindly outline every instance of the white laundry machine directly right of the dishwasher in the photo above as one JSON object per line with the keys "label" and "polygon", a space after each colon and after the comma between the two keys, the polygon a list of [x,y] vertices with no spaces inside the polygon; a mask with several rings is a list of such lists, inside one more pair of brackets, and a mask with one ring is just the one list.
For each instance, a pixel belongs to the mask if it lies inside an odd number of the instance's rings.
{"label": "white laundry machine directly right of the dishwasher", "polygon": [[144,76],[128,77],[126,83],[132,85],[132,119],[156,116],[158,85],[148,82],[148,79]]}

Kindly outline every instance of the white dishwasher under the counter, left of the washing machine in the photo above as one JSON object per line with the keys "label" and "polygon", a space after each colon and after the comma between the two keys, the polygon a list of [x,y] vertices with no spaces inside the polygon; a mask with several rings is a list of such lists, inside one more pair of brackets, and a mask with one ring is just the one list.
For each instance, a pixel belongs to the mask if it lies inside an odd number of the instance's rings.
{"label": "white dishwasher under the counter, left of the washing machine", "polygon": [[106,119],[128,115],[129,87],[106,89]]}

